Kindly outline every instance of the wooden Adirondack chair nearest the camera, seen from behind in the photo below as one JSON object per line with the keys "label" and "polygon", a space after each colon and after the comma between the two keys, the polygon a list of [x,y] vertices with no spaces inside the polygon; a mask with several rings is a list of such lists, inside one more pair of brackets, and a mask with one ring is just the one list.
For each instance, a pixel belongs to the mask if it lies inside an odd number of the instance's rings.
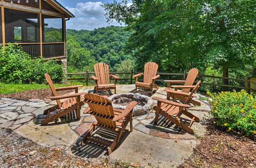
{"label": "wooden Adirondack chair nearest the camera, seen from behind", "polygon": [[[91,128],[83,137],[81,145],[86,143],[87,140],[102,144],[109,147],[108,155],[110,155],[116,144],[119,142],[119,139],[129,122],[130,131],[133,131],[132,111],[133,108],[137,105],[137,102],[132,101],[126,106],[125,109],[118,109],[113,108],[112,102],[106,98],[106,96],[100,96],[96,94],[86,94],[84,96],[84,102],[88,103],[89,106],[84,110],[83,113],[93,115],[97,122],[92,123]],[[117,134],[114,138],[114,141],[109,143],[102,140],[100,141],[98,138],[91,137],[97,127],[116,132]]]}

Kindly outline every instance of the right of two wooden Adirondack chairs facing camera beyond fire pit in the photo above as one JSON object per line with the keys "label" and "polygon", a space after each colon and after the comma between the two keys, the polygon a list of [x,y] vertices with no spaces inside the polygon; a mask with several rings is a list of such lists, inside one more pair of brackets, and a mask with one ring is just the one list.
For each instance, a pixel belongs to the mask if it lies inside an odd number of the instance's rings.
{"label": "right of two wooden Adirondack chairs facing camera beyond fire pit", "polygon": [[[151,89],[151,95],[153,95],[153,89],[159,89],[155,84],[155,80],[160,76],[157,75],[158,65],[154,62],[146,63],[144,65],[144,73],[133,75],[135,78],[135,93],[137,88]],[[143,82],[138,81],[138,77],[144,75]]]}

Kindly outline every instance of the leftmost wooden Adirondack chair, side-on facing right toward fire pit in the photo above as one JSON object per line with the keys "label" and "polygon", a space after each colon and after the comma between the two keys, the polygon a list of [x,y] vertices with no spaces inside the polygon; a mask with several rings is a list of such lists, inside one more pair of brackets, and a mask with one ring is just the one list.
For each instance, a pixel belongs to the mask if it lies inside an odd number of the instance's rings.
{"label": "leftmost wooden Adirondack chair, side-on facing right toward fire pit", "polygon": [[[81,106],[84,104],[82,101],[82,95],[86,94],[86,93],[78,93],[78,87],[82,87],[82,85],[62,87],[62,88],[55,89],[50,75],[46,73],[45,77],[46,77],[46,85],[49,85],[53,93],[53,97],[48,97],[48,98],[51,100],[56,100],[57,104],[44,111],[44,115],[47,115],[47,118],[41,121],[41,125],[46,125],[49,122],[52,122],[70,113],[73,110],[76,110],[76,118],[80,119],[80,109],[81,109]],[[58,96],[57,91],[66,91],[66,90],[75,90],[75,93]],[[61,99],[67,99],[67,100],[60,102]],[[50,113],[56,109],[57,109],[57,113],[54,115],[51,115]]]}

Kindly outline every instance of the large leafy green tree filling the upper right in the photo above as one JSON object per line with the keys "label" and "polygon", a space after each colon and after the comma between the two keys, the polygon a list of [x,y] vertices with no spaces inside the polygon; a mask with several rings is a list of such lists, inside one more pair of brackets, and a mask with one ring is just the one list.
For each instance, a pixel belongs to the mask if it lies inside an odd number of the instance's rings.
{"label": "large leafy green tree filling the upper right", "polygon": [[253,1],[134,0],[132,4],[114,1],[104,8],[109,20],[124,22],[132,32],[126,49],[139,67],[155,61],[162,70],[204,70],[210,63],[222,68],[223,77],[247,65],[255,69]]}

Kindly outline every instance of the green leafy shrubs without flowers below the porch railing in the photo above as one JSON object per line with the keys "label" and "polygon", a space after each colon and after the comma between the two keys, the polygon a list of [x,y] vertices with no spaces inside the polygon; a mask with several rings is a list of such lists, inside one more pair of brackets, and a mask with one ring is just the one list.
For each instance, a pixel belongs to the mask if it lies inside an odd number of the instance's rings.
{"label": "green leafy shrubs without flowers below the porch railing", "polygon": [[61,82],[64,74],[56,61],[44,58],[32,59],[18,45],[0,48],[0,80],[7,83],[44,83],[44,74],[51,75],[54,82]]}

